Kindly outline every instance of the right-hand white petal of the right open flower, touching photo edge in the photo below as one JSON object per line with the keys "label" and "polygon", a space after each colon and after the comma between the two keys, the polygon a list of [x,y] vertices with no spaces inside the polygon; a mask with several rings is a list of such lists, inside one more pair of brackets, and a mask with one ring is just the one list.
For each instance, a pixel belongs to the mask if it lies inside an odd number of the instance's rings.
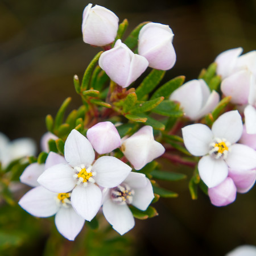
{"label": "right-hand white petal of the right open flower, touching photo edge", "polygon": [[256,151],[243,144],[233,144],[226,158],[233,170],[251,170],[256,168]]}

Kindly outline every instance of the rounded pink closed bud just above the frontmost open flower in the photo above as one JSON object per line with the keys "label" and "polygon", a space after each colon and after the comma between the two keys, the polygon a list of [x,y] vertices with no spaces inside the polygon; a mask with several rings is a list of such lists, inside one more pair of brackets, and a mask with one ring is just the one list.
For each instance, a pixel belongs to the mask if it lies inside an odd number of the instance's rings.
{"label": "rounded pink closed bud just above the frontmost open flower", "polygon": [[112,122],[100,122],[90,127],[87,138],[98,154],[106,154],[121,145],[120,135]]}

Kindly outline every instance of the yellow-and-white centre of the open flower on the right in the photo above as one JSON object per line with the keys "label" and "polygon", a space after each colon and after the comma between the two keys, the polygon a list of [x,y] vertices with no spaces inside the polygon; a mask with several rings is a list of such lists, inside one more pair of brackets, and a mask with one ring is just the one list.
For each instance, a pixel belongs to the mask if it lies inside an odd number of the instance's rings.
{"label": "yellow-and-white centre of the open flower on the right", "polygon": [[214,139],[212,143],[210,143],[209,154],[215,159],[226,159],[228,155],[230,143],[226,141],[226,139]]}

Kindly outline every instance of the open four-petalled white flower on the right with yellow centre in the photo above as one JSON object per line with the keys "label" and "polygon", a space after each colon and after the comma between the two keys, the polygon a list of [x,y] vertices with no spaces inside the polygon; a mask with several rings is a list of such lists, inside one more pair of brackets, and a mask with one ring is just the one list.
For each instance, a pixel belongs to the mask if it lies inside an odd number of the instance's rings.
{"label": "open four-petalled white flower on the right with yellow centre", "polygon": [[256,167],[256,151],[236,143],[242,135],[243,125],[237,110],[222,114],[212,125],[212,130],[201,123],[182,129],[185,147],[192,155],[203,156],[198,170],[209,187],[216,187],[232,170],[252,170]]}

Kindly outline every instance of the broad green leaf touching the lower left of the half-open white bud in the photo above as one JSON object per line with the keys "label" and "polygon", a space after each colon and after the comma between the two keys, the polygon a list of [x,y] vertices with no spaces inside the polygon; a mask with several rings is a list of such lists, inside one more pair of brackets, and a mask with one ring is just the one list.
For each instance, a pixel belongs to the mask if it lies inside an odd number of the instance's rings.
{"label": "broad green leaf touching the lower left of the half-open white bud", "polygon": [[167,117],[182,117],[183,111],[180,109],[180,105],[174,101],[164,100],[156,108],[152,109],[152,112]]}

